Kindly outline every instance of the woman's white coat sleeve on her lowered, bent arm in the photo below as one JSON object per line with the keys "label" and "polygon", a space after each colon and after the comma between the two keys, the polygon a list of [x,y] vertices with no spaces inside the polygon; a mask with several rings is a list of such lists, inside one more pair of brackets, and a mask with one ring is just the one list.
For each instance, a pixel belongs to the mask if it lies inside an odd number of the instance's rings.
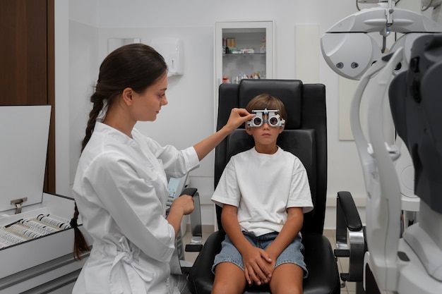
{"label": "woman's white coat sleeve on her lowered, bent arm", "polygon": [[140,178],[129,160],[116,160],[109,153],[95,159],[85,178],[88,182],[85,186],[95,190],[126,238],[149,257],[169,262],[174,252],[175,233],[162,216],[155,178],[151,181]]}

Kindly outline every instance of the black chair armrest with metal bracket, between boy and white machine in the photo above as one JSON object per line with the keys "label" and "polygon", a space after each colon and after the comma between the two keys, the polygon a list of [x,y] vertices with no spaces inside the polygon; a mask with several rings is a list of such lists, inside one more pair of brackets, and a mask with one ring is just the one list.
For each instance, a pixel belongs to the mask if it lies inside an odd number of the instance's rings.
{"label": "black chair armrest with metal bracket, between boy and white machine", "polygon": [[[349,242],[347,242],[347,233],[350,238]],[[335,257],[350,258],[349,272],[340,274],[342,281],[362,281],[365,252],[364,227],[352,194],[340,191],[336,198],[336,249],[334,253]]]}

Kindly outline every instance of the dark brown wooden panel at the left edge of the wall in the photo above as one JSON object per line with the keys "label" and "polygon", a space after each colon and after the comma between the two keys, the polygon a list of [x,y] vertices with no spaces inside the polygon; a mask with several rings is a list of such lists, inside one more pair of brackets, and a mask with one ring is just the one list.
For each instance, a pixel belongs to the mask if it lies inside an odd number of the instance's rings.
{"label": "dark brown wooden panel at the left edge of the wall", "polygon": [[54,0],[0,0],[0,105],[52,105],[47,192],[55,192],[54,93]]}

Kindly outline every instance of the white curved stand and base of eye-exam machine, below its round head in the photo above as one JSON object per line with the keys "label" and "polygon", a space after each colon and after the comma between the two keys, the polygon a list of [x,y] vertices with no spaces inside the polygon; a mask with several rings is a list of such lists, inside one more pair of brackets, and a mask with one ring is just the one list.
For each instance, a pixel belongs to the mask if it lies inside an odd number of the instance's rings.
{"label": "white curved stand and base of eye-exam machine, below its round head", "polygon": [[[351,113],[352,131],[368,192],[366,242],[369,251],[364,257],[364,264],[369,265],[378,288],[400,294],[442,293],[442,200],[440,190],[436,190],[442,186],[438,172],[442,169],[442,149],[438,130],[441,124],[436,122],[438,110],[435,110],[441,106],[437,77],[442,73],[442,35],[426,35],[417,39],[413,49],[423,51],[422,47],[429,49],[426,63],[419,64],[424,58],[420,61],[413,58],[413,68],[409,73],[399,75],[398,81],[393,80],[394,84],[390,80],[402,49],[370,68],[354,94]],[[431,63],[436,63],[436,66]],[[419,71],[414,68],[419,68]],[[379,75],[378,87],[369,100],[369,134],[366,139],[360,128],[359,105],[366,85],[376,74]],[[406,78],[404,74],[407,74]],[[395,145],[386,144],[380,116],[386,91],[390,92],[390,104],[399,134],[404,137],[407,147],[413,150],[414,163],[419,165],[419,174],[414,177],[417,179],[415,191],[423,201],[417,223],[405,230],[403,238],[399,238],[400,185],[393,164],[400,157],[400,151]],[[418,99],[425,99],[426,103]],[[432,171],[436,173],[431,174]]]}

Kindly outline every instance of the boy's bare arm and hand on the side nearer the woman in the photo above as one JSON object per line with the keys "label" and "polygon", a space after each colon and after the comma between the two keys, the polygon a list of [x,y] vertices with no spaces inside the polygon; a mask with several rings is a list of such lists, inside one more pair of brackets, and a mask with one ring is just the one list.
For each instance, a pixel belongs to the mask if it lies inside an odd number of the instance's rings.
{"label": "boy's bare arm and hand on the side nearer the woman", "polygon": [[251,285],[252,282],[258,285],[268,283],[272,271],[268,269],[267,264],[270,264],[272,259],[270,259],[264,250],[254,247],[249,240],[244,237],[238,223],[237,212],[238,207],[224,204],[222,207],[221,221],[233,245],[237,247],[237,250],[241,253],[246,281],[249,285]]}

